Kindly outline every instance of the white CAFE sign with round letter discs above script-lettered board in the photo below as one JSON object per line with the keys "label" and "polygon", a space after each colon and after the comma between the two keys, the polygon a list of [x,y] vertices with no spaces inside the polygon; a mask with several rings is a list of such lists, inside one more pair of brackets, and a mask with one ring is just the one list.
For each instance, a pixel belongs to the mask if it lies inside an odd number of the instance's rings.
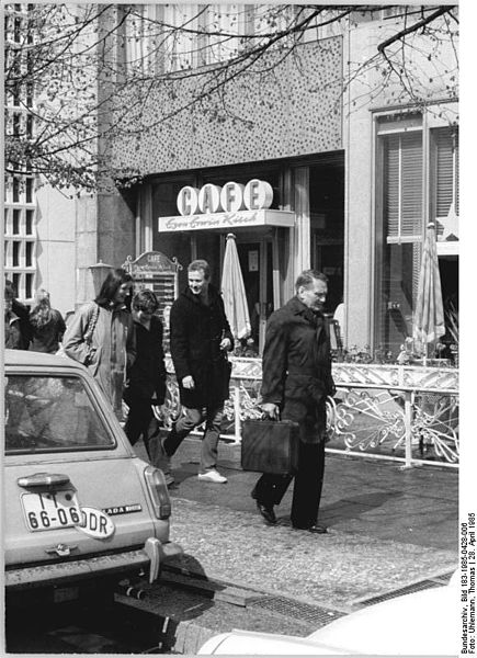
{"label": "white CAFE sign with round letter discs above script-lettered board", "polygon": [[270,183],[253,179],[242,185],[229,182],[223,188],[207,183],[200,190],[186,185],[178,194],[180,215],[159,217],[159,232],[230,229],[253,226],[294,226],[295,214],[270,209]]}

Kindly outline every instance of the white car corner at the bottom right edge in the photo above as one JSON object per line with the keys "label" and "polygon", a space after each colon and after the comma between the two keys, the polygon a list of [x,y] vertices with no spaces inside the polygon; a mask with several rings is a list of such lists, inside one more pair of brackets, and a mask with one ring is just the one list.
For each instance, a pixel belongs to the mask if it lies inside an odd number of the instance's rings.
{"label": "white car corner at the bottom right edge", "polygon": [[368,605],[307,637],[235,629],[207,639],[198,655],[457,656],[459,577]]}

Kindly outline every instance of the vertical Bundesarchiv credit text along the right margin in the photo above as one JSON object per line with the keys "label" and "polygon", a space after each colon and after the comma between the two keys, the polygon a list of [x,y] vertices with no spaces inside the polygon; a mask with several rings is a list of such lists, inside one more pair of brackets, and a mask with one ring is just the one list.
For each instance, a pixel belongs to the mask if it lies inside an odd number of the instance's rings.
{"label": "vertical Bundesarchiv credit text along the right margin", "polygon": [[475,514],[461,523],[461,654],[475,654]]}

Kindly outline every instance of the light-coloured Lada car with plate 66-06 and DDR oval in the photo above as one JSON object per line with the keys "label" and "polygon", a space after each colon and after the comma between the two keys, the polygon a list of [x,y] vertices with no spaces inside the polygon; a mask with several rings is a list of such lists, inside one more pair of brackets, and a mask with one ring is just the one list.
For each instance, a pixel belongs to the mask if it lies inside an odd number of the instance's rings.
{"label": "light-coloured Lada car with plate 66-06 and DDR oval", "polygon": [[8,601],[55,602],[147,577],[170,541],[161,470],[140,460],[94,378],[66,356],[4,352],[4,585]]}

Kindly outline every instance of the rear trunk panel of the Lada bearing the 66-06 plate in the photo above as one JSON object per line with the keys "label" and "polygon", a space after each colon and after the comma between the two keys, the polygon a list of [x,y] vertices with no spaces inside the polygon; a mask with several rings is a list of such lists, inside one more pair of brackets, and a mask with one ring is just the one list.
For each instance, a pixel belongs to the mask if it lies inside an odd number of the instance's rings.
{"label": "rear trunk panel of the Lada bearing the 66-06 plate", "polygon": [[[154,514],[144,479],[147,464],[138,457],[130,458],[125,447],[117,447],[115,451],[38,454],[26,458],[25,455],[5,456],[7,568],[9,565],[122,551],[133,547],[132,535],[136,546],[144,545],[147,537],[158,535],[159,522],[151,519]],[[53,478],[54,475],[66,477]],[[48,481],[53,484],[46,484]],[[75,510],[76,503],[91,514],[80,519],[80,522],[87,521],[86,527],[78,523],[73,525],[78,518],[69,506]],[[88,512],[90,508],[93,508],[92,512]],[[159,538],[167,540],[168,523],[162,521],[160,526],[164,536]]]}

